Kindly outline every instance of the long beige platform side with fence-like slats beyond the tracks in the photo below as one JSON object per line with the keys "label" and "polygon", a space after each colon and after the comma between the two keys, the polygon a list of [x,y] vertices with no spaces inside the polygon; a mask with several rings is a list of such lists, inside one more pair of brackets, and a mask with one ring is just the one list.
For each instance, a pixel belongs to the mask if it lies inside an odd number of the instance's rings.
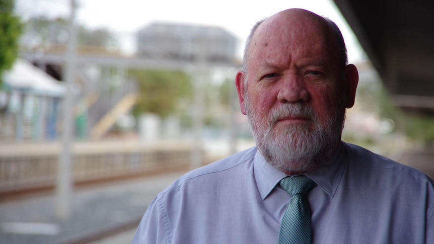
{"label": "long beige platform side with fence-like slats beyond the tracks", "polygon": [[[192,146],[182,143],[82,142],[71,148],[76,184],[186,168]],[[60,144],[0,145],[0,194],[53,187]]]}

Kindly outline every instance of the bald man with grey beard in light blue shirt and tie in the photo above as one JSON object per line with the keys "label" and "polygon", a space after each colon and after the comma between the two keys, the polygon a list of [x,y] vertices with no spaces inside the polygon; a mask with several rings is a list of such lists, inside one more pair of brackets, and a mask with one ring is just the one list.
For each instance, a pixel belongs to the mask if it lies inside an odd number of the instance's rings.
{"label": "bald man with grey beard in light blue shirt and tie", "polygon": [[[300,9],[259,22],[236,76],[257,147],[161,192],[132,243],[434,243],[434,182],[341,141],[357,82],[333,22]],[[312,184],[291,197],[285,179]],[[285,220],[292,198],[305,222]]]}

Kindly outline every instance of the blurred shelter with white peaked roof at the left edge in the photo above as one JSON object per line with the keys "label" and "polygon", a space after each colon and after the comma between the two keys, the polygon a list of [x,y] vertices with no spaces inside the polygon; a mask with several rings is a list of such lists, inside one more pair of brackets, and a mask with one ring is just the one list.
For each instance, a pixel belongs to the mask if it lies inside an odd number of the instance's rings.
{"label": "blurred shelter with white peaked roof at the left edge", "polygon": [[55,139],[65,91],[43,70],[17,59],[0,89],[0,139]]}

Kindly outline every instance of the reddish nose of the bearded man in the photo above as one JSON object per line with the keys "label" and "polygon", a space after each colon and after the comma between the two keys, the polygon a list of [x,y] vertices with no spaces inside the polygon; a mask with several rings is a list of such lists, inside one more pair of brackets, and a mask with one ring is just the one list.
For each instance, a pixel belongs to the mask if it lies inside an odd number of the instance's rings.
{"label": "reddish nose of the bearded man", "polygon": [[302,78],[287,74],[280,80],[277,100],[281,103],[307,102],[310,99]]}

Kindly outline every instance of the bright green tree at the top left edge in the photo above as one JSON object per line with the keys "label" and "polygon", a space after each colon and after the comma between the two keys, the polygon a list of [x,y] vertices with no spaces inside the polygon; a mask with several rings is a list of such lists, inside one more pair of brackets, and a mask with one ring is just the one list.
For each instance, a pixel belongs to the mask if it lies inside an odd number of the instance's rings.
{"label": "bright green tree at the top left edge", "polygon": [[22,24],[13,10],[14,0],[0,0],[0,86],[3,72],[12,68],[18,56]]}

